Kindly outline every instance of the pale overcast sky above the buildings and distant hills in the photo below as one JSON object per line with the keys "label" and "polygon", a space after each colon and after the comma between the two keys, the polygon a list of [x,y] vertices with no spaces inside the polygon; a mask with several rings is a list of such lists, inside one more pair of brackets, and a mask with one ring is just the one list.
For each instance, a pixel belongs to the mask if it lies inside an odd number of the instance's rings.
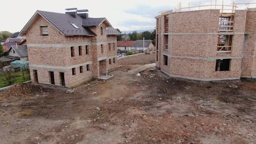
{"label": "pale overcast sky above the buildings and distant hills", "polygon": [[[201,0],[201,5],[211,0]],[[199,0],[0,0],[0,31],[20,31],[36,10],[64,13],[64,9],[88,9],[90,17],[106,17],[113,27],[125,30],[154,29],[154,17],[159,11],[198,6]],[[225,0],[224,4],[232,3]],[[236,3],[256,3],[256,0],[236,0]],[[212,0],[215,3],[215,0]],[[222,4],[222,0],[217,0]],[[241,6],[239,5],[241,8]],[[250,7],[256,7],[255,5]]]}

